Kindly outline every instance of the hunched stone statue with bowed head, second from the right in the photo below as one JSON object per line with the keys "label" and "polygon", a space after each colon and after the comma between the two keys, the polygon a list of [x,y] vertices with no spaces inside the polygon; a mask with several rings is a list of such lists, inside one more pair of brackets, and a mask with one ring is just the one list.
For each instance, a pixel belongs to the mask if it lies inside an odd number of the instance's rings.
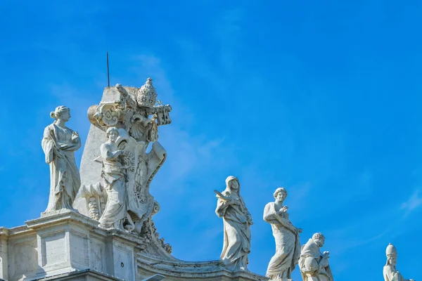
{"label": "hunched stone statue with bowed head, second from the right", "polygon": [[302,246],[299,268],[304,281],[333,281],[333,274],[328,263],[329,253],[319,250],[324,246],[325,237],[321,233],[312,235],[312,239]]}

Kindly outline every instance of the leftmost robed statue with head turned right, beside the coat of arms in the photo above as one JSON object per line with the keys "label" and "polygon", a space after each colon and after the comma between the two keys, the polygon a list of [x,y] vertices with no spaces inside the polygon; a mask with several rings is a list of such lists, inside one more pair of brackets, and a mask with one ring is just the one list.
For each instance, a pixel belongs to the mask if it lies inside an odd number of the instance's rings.
{"label": "leftmost robed statue with head turned right, beside the coat of arms", "polygon": [[68,107],[60,105],[51,112],[53,124],[46,126],[41,141],[50,165],[50,197],[45,213],[60,209],[71,209],[81,185],[79,170],[75,162],[75,151],[81,147],[81,140],[76,131],[72,131],[65,122],[70,119]]}

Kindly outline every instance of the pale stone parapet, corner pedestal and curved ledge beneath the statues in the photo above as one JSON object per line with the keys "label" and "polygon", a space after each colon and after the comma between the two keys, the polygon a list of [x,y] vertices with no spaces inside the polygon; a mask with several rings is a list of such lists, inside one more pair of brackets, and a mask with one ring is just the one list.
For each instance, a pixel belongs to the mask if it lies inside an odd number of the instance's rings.
{"label": "pale stone parapet, corner pedestal and curved ledge beneath the statues", "polygon": [[169,281],[267,280],[249,271],[233,273],[221,261],[186,262],[151,255],[151,244],[143,237],[97,225],[87,216],[61,210],[25,226],[0,228],[0,278],[141,281],[162,275]]}

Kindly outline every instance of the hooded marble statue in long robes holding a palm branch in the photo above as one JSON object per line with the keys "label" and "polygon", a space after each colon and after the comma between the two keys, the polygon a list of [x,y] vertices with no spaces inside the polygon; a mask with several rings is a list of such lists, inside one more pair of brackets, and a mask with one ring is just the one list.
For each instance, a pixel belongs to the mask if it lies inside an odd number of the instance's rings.
{"label": "hooded marble statue in long robes holding a palm branch", "polygon": [[226,189],[217,193],[215,213],[224,222],[224,243],[220,259],[229,270],[246,270],[250,253],[250,226],[252,217],[241,197],[238,178],[226,178]]}

